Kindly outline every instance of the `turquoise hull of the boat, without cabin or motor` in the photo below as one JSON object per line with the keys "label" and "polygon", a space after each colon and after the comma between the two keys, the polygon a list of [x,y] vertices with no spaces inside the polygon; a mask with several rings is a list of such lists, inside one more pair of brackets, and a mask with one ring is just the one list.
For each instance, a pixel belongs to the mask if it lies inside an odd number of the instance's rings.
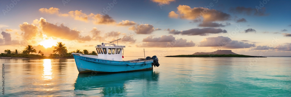
{"label": "turquoise hull of the boat, without cabin or motor", "polygon": [[79,73],[97,72],[112,73],[153,68],[153,60],[145,61],[112,61],[73,54]]}

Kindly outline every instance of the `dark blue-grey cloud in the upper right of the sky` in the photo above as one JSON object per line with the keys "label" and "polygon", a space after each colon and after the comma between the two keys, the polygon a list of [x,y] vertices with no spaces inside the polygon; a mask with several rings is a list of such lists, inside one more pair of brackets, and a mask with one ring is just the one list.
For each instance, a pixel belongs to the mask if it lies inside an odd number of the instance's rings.
{"label": "dark blue-grey cloud in the upper right of the sky", "polygon": [[266,16],[265,14],[265,8],[262,8],[260,11],[257,11],[256,8],[245,8],[245,7],[236,7],[236,8],[229,8],[229,12],[231,13],[240,13],[240,14],[246,14],[246,15],[255,15],[255,16]]}

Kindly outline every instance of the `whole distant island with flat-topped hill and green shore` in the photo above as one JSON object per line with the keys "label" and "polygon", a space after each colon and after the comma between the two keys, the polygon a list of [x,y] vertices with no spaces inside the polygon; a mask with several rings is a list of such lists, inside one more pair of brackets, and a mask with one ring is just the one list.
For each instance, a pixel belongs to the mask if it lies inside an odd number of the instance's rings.
{"label": "whole distant island with flat-topped hill and green shore", "polygon": [[166,57],[262,57],[262,56],[249,56],[236,54],[231,50],[217,50],[215,52],[196,52],[191,55],[175,55],[175,56],[166,56]]}

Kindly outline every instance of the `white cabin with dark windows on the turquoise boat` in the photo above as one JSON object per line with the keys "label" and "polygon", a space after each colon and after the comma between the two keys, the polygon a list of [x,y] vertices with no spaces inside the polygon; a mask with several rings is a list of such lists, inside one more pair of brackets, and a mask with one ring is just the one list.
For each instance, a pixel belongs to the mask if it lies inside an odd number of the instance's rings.
{"label": "white cabin with dark windows on the turquoise boat", "polygon": [[[105,46],[108,45],[108,46]],[[98,53],[98,58],[112,61],[122,61],[122,51],[125,46],[115,45],[111,43],[101,43],[95,48]]]}

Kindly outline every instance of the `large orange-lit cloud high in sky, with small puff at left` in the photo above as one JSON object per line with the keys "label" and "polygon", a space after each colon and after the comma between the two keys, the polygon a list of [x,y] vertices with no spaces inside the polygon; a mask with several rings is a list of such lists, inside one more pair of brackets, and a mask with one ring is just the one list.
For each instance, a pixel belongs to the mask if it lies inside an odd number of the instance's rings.
{"label": "large orange-lit cloud high in sky, with small puff at left", "polygon": [[[195,20],[203,18],[203,22],[225,21],[230,19],[229,14],[223,13],[215,9],[208,9],[202,7],[191,8],[190,6],[187,5],[179,5],[177,9],[178,9],[177,15],[179,15],[181,19]],[[175,18],[176,13],[171,11],[169,13],[169,17]]]}

